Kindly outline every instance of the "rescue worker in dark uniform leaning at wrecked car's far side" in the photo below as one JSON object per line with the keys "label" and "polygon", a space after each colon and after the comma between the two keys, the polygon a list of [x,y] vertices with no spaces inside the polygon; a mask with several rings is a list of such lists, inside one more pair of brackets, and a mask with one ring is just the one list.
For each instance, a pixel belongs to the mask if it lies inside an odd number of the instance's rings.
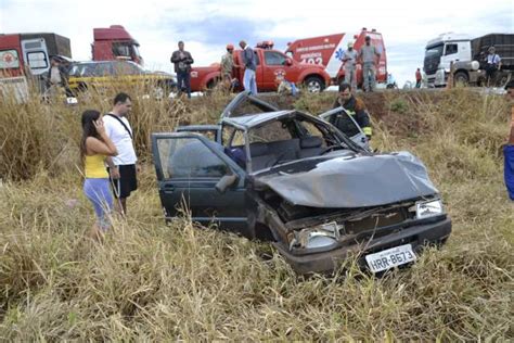
{"label": "rescue worker in dark uniform leaning at wrecked car's far side", "polygon": [[[342,106],[349,115],[359,124],[368,140],[371,139],[371,124],[370,115],[365,111],[364,102],[356,98],[351,93],[349,84],[343,82],[339,85],[339,94],[334,103],[333,109]],[[337,127],[343,134],[348,137],[354,137],[359,134],[359,128],[355,126],[351,119],[344,114],[334,114],[329,118],[329,123]]]}

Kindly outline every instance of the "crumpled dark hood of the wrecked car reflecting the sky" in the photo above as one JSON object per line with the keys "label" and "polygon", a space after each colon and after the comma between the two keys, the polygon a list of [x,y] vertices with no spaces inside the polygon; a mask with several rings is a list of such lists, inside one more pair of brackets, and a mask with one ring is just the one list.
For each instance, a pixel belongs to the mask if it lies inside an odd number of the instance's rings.
{"label": "crumpled dark hood of the wrecked car reflecting the sky", "polygon": [[423,163],[409,152],[303,160],[255,180],[294,205],[311,207],[377,206],[438,193]]}

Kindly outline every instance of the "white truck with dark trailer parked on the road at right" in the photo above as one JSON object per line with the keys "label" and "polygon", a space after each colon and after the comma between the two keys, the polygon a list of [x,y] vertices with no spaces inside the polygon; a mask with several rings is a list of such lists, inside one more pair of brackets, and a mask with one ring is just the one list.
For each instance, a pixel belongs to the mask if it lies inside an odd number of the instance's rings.
{"label": "white truck with dark trailer parked on the road at right", "polygon": [[445,87],[450,74],[455,84],[485,85],[489,47],[494,47],[501,58],[501,68],[497,71],[493,82],[497,86],[505,84],[514,73],[514,34],[488,34],[471,38],[446,33],[429,40],[425,48],[423,71],[428,87]]}

